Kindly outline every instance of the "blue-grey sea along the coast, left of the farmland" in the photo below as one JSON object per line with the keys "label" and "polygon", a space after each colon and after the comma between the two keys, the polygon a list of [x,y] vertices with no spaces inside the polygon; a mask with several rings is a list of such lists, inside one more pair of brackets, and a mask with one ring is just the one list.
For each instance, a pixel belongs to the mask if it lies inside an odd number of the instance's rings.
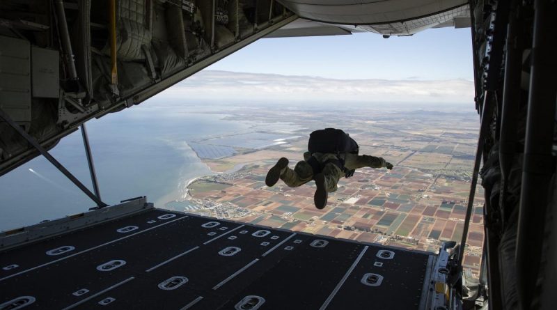
{"label": "blue-grey sea along the coast, left of the farmland", "polygon": [[[187,142],[249,128],[246,123],[227,121],[217,107],[156,100],[86,123],[105,203],[147,196],[162,207],[180,199],[189,180],[212,173]],[[50,152],[93,191],[79,130]],[[0,231],[95,206],[43,157],[2,176],[0,197]]]}

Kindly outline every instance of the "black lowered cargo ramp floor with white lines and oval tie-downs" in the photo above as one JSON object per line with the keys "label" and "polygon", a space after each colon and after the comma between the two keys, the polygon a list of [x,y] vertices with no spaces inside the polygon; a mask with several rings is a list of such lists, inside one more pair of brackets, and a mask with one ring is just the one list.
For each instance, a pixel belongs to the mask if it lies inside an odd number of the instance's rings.
{"label": "black lowered cargo ramp floor with white lines and oval tie-downs", "polygon": [[0,309],[432,309],[446,302],[434,289],[446,251],[211,219],[156,209],[145,198],[7,231],[0,242]]}

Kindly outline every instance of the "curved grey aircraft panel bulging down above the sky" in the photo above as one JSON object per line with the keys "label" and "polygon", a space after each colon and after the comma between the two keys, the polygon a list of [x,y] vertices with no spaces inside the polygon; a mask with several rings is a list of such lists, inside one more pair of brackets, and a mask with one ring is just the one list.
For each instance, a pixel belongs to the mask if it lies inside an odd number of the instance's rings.
{"label": "curved grey aircraft panel bulging down above the sky", "polygon": [[[467,4],[466,0],[281,0],[299,17],[331,24],[388,24],[419,19]],[[364,3],[363,3],[364,2]]]}

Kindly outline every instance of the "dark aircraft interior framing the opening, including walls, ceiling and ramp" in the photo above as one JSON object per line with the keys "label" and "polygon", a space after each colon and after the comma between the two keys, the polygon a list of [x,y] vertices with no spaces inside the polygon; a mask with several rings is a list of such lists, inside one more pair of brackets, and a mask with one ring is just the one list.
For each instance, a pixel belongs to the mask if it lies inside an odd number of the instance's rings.
{"label": "dark aircraft interior framing the opening, including walls, ceiling and ramp", "polygon": [[[557,1],[2,0],[0,176],[44,156],[91,210],[0,233],[0,309],[554,309]],[[50,155],[260,38],[470,29],[478,148],[439,253],[108,206]],[[87,152],[89,157],[90,152]],[[478,283],[462,276],[485,189]],[[127,199],[129,197],[122,197]],[[0,197],[1,205],[1,197]],[[0,207],[1,212],[1,207]]]}

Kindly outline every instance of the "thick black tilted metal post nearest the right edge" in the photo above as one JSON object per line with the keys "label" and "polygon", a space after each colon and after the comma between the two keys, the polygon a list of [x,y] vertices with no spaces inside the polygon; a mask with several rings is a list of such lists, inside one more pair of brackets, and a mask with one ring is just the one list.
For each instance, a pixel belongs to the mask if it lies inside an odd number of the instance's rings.
{"label": "thick black tilted metal post nearest the right edge", "polygon": [[[530,309],[538,290],[542,267],[546,210],[554,176],[554,144],[557,86],[557,29],[554,1],[535,0],[531,54],[530,91],[526,116],[524,165],[517,231],[517,293],[521,309]],[[549,305],[544,305],[550,307]]]}

